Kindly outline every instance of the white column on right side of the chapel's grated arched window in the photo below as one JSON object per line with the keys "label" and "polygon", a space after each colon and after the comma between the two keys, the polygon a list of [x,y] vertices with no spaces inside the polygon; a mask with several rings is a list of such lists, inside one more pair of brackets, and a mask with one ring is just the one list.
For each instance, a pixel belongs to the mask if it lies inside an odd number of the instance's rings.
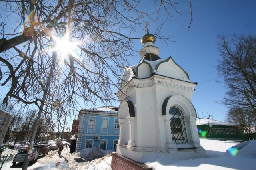
{"label": "white column on right side of the chapel's grated arched window", "polygon": [[200,140],[198,131],[196,130],[196,117],[194,116],[184,116],[184,121],[186,123],[186,132],[188,136],[188,144],[198,148],[200,147]]}

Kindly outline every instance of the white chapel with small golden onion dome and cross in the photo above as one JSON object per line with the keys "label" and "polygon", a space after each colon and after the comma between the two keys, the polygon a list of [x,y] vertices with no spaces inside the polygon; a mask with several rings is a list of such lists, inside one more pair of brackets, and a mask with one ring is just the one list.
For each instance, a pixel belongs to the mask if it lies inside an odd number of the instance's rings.
{"label": "white chapel with small golden onion dome and cross", "polygon": [[141,40],[141,60],[126,67],[117,119],[117,154],[138,161],[158,153],[174,159],[206,158],[196,127],[192,83],[172,57],[161,59],[156,38],[147,30]]}

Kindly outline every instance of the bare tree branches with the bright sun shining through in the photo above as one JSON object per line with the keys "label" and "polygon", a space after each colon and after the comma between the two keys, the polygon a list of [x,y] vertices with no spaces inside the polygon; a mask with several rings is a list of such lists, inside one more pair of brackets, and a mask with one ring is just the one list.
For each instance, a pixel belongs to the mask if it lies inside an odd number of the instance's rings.
{"label": "bare tree branches with the bright sun shining through", "polygon": [[[41,104],[50,106],[58,97],[75,109],[79,98],[90,107],[96,101],[108,105],[124,66],[137,52],[138,31],[146,22],[157,22],[160,9],[167,16],[169,7],[177,12],[176,3],[152,0],[154,17],[140,4],[140,0],[1,2],[6,22],[0,32],[0,81],[10,87],[3,103],[15,98],[37,105],[45,114],[50,110]],[[160,35],[163,23],[158,22],[155,36],[166,42],[169,38]]]}

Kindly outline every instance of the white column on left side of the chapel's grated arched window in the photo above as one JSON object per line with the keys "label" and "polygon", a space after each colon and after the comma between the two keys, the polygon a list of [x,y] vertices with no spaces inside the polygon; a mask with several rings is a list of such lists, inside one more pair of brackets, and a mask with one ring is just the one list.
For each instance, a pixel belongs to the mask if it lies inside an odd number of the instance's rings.
{"label": "white column on left side of the chapel's grated arched window", "polygon": [[176,148],[176,144],[172,142],[172,130],[171,130],[171,118],[173,115],[164,115],[164,125],[165,125],[165,133],[166,133],[166,144],[167,148]]}

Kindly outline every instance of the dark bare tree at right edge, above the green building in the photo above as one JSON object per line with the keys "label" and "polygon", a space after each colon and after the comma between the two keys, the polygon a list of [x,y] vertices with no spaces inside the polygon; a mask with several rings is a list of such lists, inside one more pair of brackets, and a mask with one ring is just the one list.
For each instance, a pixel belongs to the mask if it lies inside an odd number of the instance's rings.
{"label": "dark bare tree at right edge, above the green building", "polygon": [[[251,134],[256,122],[256,36],[218,36],[218,74],[224,78],[226,95],[220,103],[229,108],[226,119]],[[249,132],[250,131],[250,132]]]}

